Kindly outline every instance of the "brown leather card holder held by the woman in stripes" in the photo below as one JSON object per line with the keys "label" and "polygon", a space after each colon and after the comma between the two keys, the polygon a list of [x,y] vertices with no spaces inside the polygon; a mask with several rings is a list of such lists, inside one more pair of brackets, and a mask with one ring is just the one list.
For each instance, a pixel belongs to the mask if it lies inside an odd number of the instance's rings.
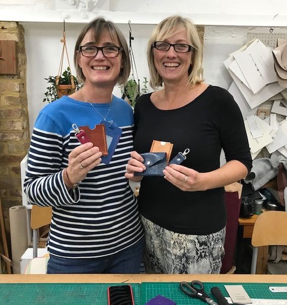
{"label": "brown leather card holder held by the woman in stripes", "polygon": [[104,124],[98,124],[95,126],[94,129],[90,129],[89,126],[80,126],[79,129],[84,132],[86,137],[85,139],[86,143],[92,142],[94,146],[99,147],[103,156],[107,156],[108,149],[107,149],[106,132],[105,132]]}

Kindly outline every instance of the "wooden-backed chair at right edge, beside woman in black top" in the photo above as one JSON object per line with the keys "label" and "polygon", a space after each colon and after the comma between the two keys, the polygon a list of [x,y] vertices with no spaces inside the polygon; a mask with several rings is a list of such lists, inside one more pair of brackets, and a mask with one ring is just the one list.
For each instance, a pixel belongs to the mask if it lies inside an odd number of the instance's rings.
{"label": "wooden-backed chair at right edge, beside woman in black top", "polygon": [[287,246],[287,212],[267,211],[260,214],[254,224],[251,244],[251,274],[255,274],[258,247]]}

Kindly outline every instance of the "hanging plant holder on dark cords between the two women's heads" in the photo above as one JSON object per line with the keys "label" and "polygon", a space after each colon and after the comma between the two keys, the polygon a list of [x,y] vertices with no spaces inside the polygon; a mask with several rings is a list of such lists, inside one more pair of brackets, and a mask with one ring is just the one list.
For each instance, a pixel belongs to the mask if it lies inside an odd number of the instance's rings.
{"label": "hanging plant holder on dark cords between the two women's heads", "polygon": [[[125,99],[127,97],[130,102],[132,102],[132,100],[133,100],[133,102],[135,102],[136,99],[140,95],[140,87],[139,87],[139,78],[138,78],[138,74],[137,74],[137,69],[136,69],[136,64],[135,64],[135,59],[134,59],[134,54],[133,54],[133,49],[132,49],[132,40],[134,40],[134,38],[132,37],[130,20],[128,21],[128,24],[129,24],[129,28],[130,28],[129,29],[129,57],[130,57],[131,72],[132,72],[132,79],[128,80],[128,83],[130,86],[132,86],[134,88],[133,92],[135,92],[135,94],[133,96],[130,96],[129,90],[125,86],[122,99]],[[137,80],[135,80],[135,75],[136,75]]]}

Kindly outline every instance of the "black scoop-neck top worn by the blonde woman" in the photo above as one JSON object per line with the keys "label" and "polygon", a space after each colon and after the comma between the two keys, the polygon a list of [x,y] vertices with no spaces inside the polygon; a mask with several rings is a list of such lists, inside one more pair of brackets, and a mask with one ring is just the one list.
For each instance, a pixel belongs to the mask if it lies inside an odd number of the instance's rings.
{"label": "black scoop-neck top worn by the blonde woman", "polygon": [[[220,153],[226,162],[238,160],[248,172],[252,167],[250,148],[241,111],[233,97],[217,86],[209,86],[187,105],[160,110],[141,96],[135,105],[134,149],[150,151],[153,140],[174,143],[170,160],[190,149],[181,164],[198,172],[220,167]],[[168,230],[207,235],[226,223],[224,188],[183,192],[163,177],[143,177],[138,196],[140,213]]]}

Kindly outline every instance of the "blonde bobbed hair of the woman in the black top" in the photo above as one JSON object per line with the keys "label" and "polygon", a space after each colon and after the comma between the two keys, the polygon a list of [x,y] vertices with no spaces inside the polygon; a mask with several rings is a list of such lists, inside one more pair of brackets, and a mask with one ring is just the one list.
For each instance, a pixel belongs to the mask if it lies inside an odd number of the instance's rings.
{"label": "blonde bobbed hair of the woman in the black top", "polygon": [[164,41],[182,31],[187,32],[187,37],[190,39],[191,45],[194,48],[192,56],[192,65],[188,70],[188,83],[190,85],[203,82],[202,77],[202,43],[200,42],[197,29],[191,20],[181,16],[170,16],[162,20],[155,28],[148,42],[148,64],[150,69],[150,85],[153,89],[161,86],[163,83],[162,77],[156,70],[154,64],[154,52],[152,44],[155,41]]}

